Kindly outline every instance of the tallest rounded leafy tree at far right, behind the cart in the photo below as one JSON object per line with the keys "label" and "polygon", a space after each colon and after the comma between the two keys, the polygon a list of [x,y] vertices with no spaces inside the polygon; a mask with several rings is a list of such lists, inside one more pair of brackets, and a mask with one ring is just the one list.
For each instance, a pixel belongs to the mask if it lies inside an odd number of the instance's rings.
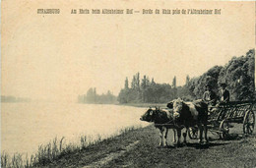
{"label": "tallest rounded leafy tree at far right, behind the cart", "polygon": [[226,83],[231,100],[254,99],[255,90],[255,50],[249,50],[245,56],[233,57],[224,66],[219,84]]}

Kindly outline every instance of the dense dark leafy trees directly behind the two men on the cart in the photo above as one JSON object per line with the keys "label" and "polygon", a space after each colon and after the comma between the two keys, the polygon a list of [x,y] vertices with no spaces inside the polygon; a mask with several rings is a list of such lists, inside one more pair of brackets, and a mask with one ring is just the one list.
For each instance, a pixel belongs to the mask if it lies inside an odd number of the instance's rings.
{"label": "dense dark leafy trees directly behind the two men on the cart", "polygon": [[189,92],[194,99],[201,98],[206,84],[211,84],[218,92],[220,84],[227,84],[230,100],[252,100],[255,92],[255,50],[251,49],[246,56],[233,57],[224,67],[215,66],[199,78],[188,83]]}

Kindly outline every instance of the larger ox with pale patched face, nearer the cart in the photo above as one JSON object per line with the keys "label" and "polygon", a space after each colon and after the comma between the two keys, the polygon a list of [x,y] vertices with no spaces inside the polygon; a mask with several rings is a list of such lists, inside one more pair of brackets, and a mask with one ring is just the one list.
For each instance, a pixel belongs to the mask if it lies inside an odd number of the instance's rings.
{"label": "larger ox with pale patched face, nearer the cart", "polygon": [[[196,100],[194,102],[184,102],[180,98],[174,99],[167,103],[167,107],[173,109],[173,119],[176,125],[184,126],[186,133],[184,136],[184,142],[186,143],[186,135],[189,127],[198,126],[200,131],[200,140],[203,142],[203,130],[205,131],[205,140],[207,139],[207,120],[208,120],[208,106],[202,100]],[[180,143],[180,130],[177,130],[178,141]]]}

